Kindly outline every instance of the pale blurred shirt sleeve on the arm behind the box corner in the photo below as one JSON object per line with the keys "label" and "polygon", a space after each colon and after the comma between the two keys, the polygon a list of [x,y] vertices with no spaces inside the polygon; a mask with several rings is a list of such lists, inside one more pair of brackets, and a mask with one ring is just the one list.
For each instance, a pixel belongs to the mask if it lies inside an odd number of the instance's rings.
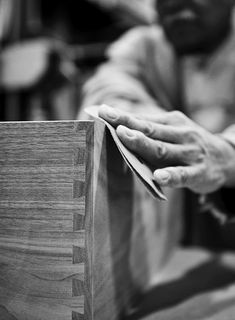
{"label": "pale blurred shirt sleeve on the arm behind the box corner", "polygon": [[110,46],[108,61],[99,67],[83,88],[82,109],[105,103],[135,114],[162,111],[149,92],[144,77],[146,41],[146,30],[140,27],[129,31]]}

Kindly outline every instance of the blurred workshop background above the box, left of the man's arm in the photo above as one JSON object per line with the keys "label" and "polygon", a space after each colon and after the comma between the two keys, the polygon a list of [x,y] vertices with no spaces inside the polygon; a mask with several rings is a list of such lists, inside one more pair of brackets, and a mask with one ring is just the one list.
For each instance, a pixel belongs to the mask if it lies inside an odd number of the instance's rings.
{"label": "blurred workshop background above the box, left of the man's arm", "polygon": [[107,46],[154,0],[0,0],[0,120],[74,119]]}

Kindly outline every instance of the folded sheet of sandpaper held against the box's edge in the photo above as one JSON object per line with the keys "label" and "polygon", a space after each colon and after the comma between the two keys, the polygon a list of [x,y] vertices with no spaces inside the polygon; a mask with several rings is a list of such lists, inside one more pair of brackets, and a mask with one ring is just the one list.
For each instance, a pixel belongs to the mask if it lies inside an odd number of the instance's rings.
{"label": "folded sheet of sandpaper held against the box's edge", "polygon": [[113,128],[107,121],[99,117],[97,106],[86,108],[85,111],[95,119],[99,119],[106,124],[109,129],[114,142],[116,143],[121,155],[123,156],[125,162],[129,166],[129,168],[138,176],[138,178],[144,183],[150,193],[161,200],[167,200],[165,195],[163,194],[161,188],[156,184],[153,180],[153,172],[152,170],[143,163],[134,153],[132,153],[129,149],[127,149],[124,144],[119,139],[115,128]]}

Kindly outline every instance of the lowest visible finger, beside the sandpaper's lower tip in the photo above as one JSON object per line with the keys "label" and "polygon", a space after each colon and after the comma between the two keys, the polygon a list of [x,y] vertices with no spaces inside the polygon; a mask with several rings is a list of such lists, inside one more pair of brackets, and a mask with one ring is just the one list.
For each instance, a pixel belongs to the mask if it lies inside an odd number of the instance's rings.
{"label": "lowest visible finger, beside the sandpaper's lower tip", "polygon": [[162,187],[185,188],[200,192],[202,166],[179,166],[158,169],[154,172],[154,180]]}

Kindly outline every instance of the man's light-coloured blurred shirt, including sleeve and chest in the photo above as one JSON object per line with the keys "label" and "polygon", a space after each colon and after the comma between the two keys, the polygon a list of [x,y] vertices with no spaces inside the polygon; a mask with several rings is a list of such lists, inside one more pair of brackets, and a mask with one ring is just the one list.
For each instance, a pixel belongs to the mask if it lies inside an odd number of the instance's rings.
{"label": "man's light-coloured blurred shirt, including sleeve and chest", "polygon": [[107,103],[134,113],[183,109],[211,132],[227,129],[235,144],[235,33],[213,55],[178,58],[160,27],[138,27],[107,56],[84,88],[84,106]]}

